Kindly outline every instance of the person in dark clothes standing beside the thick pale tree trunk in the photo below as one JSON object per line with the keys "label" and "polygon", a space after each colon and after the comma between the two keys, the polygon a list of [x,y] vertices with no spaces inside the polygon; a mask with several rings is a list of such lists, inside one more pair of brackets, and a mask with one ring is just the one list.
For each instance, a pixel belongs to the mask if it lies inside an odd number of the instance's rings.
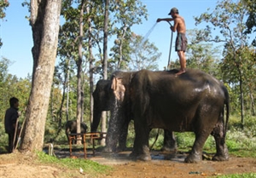
{"label": "person in dark clothes standing beside the thick pale tree trunk", "polygon": [[17,142],[15,138],[15,128],[17,119],[20,116],[19,110],[19,100],[15,97],[9,99],[9,109],[6,110],[4,116],[4,128],[5,133],[9,136],[9,152],[13,152],[14,145]]}

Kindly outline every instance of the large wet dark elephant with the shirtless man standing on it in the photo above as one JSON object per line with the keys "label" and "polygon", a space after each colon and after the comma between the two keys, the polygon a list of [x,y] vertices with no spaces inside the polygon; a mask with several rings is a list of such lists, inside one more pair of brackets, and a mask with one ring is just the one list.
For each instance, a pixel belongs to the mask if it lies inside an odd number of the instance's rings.
{"label": "large wet dark elephant with the shirtless man standing on it", "polygon": [[[136,133],[131,156],[150,160],[149,131],[160,128],[195,133],[194,146],[184,160],[186,163],[201,161],[202,149],[210,134],[215,139],[217,150],[212,160],[228,160],[225,135],[230,101],[227,89],[223,83],[205,72],[188,69],[177,77],[176,72],[142,70],[131,73],[129,78],[124,78],[119,72],[113,73],[112,89],[118,102],[121,105],[124,102],[131,103],[126,111],[134,118]],[[116,118],[119,118],[119,111],[116,113]],[[109,140],[115,138],[114,128],[119,124],[116,118],[111,117],[109,121],[108,129],[112,130],[112,135],[108,135]]]}

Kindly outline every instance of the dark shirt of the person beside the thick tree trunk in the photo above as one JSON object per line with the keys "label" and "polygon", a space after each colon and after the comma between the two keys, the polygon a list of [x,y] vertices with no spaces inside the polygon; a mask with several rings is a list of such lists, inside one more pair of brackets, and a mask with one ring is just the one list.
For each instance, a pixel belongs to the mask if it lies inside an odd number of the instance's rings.
{"label": "dark shirt of the person beside the thick tree trunk", "polygon": [[17,118],[19,118],[17,108],[10,107],[8,110],[6,110],[5,116],[4,116],[4,128],[6,133],[15,132],[14,125],[17,121]]}

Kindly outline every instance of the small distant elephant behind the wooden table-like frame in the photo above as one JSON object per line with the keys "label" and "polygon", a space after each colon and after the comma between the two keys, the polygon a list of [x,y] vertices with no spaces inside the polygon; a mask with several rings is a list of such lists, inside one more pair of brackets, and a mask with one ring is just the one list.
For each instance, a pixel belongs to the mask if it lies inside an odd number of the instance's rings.
{"label": "small distant elephant behind the wooden table-like frame", "polygon": [[[83,122],[80,123],[80,128],[81,128],[81,134],[85,134],[88,129],[87,125]],[[67,121],[65,131],[66,131],[66,135],[67,135],[67,141],[69,143],[68,135],[77,134],[77,121],[76,120]],[[82,141],[84,141],[84,138],[82,139]],[[72,143],[76,144],[76,141],[73,141]]]}

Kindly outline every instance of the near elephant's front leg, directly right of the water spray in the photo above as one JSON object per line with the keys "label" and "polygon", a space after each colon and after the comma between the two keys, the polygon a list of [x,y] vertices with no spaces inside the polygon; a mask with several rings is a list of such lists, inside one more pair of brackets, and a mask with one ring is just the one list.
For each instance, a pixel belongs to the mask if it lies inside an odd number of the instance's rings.
{"label": "near elephant's front leg, directly right of the water spray", "polygon": [[149,128],[146,121],[143,122],[142,118],[139,119],[134,119],[135,140],[131,157],[149,161],[151,160],[148,147]]}

